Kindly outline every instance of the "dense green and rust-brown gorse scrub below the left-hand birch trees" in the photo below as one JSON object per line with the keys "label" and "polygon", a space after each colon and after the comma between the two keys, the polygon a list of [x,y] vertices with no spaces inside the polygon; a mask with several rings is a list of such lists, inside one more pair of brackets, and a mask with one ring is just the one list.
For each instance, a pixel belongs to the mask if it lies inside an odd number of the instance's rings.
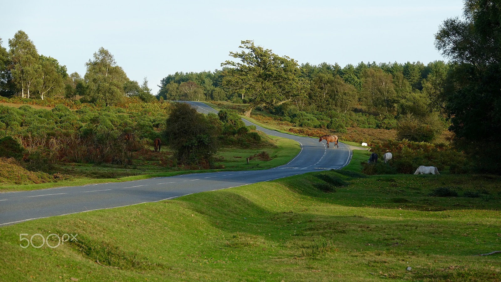
{"label": "dense green and rust-brown gorse scrub below the left-hand birch trees", "polygon": [[[58,161],[128,164],[141,144],[159,137],[170,107],[130,99],[122,108],[74,105],[78,109],[63,103],[52,105],[52,110],[0,105],[0,130],[19,140],[28,154],[27,165],[34,169],[48,169]],[[136,138],[120,142],[117,137],[124,132]]]}

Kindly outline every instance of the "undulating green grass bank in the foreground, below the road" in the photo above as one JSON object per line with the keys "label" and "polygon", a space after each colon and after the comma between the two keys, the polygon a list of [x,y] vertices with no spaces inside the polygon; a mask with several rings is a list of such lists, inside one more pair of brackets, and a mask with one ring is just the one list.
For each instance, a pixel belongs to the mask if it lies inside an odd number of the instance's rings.
{"label": "undulating green grass bank in the foreground, below the road", "polygon": [[[0,280],[500,281],[499,254],[476,256],[499,250],[500,184],[315,172],[33,220],[0,228]],[[20,246],[51,233],[78,241]]]}

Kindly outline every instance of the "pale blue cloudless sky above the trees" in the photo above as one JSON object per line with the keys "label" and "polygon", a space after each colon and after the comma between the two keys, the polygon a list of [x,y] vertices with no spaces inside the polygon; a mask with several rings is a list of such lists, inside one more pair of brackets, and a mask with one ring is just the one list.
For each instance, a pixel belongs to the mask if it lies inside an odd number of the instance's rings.
{"label": "pale blue cloudless sky above the trees", "polygon": [[445,60],[434,34],[461,16],[462,1],[9,1],[0,38],[23,30],[39,54],[85,75],[104,47],[131,80],[153,94],[176,71],[221,69],[241,40],[299,64]]}

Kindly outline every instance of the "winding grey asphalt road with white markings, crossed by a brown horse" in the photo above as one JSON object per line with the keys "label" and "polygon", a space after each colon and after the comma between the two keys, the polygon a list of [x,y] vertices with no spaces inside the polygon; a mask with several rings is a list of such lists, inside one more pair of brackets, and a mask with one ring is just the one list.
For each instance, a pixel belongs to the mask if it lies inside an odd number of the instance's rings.
{"label": "winding grey asphalt road with white markings, crossed by a brown horse", "polygon": [[[217,112],[200,102],[187,102],[202,113]],[[244,121],[246,125],[252,125]],[[297,141],[301,152],[288,164],[267,170],[211,172],[155,177],[143,180],[58,187],[34,191],[0,193],[0,226],[22,221],[96,209],[113,208],[172,199],[183,195],[231,188],[311,171],[338,169],[347,165],[351,150],[316,138],[300,137],[256,126],[268,135]]]}

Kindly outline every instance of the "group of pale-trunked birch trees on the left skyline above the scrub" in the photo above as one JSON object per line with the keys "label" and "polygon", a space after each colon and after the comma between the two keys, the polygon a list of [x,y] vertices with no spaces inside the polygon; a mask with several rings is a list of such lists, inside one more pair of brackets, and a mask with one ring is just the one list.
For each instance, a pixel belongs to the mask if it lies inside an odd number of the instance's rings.
{"label": "group of pale-trunked birch trees on the left skyline above the scrub", "polygon": [[124,97],[138,97],[144,102],[155,99],[144,78],[142,85],[130,80],[103,47],[94,53],[82,77],[68,75],[67,68],[48,56],[39,55],[28,35],[18,31],[9,40],[9,50],[0,38],[0,95],[4,97],[46,99],[65,97],[80,102],[116,105]]}

